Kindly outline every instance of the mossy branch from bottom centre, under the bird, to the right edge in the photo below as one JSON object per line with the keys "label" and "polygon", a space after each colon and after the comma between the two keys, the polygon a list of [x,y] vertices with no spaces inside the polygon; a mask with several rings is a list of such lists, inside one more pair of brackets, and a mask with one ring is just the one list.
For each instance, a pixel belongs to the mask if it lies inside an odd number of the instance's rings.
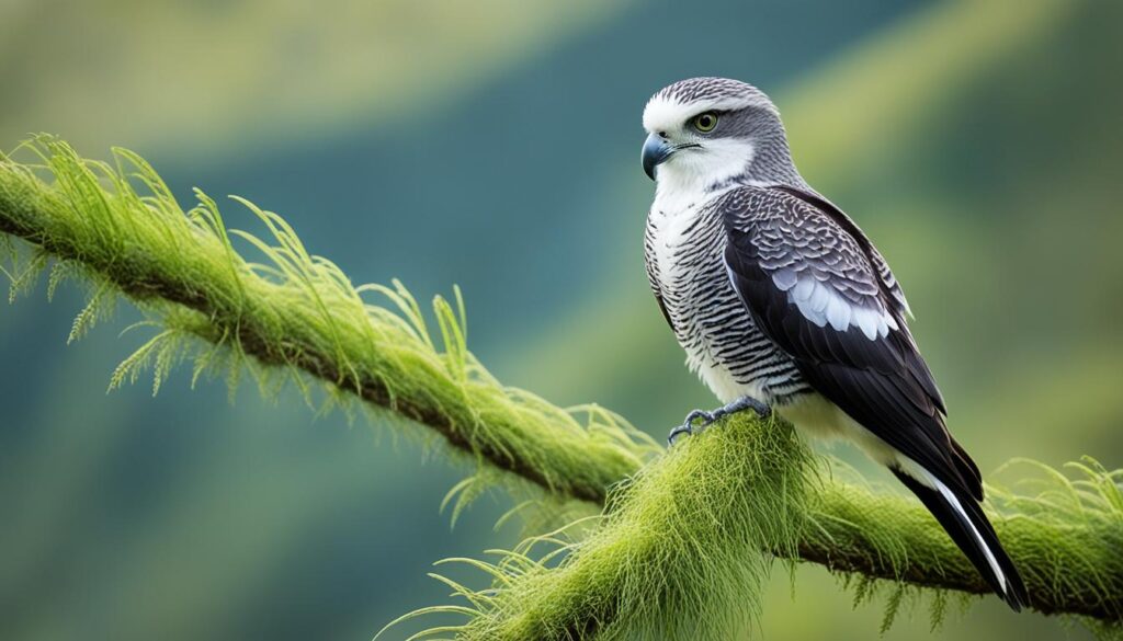
{"label": "mossy branch from bottom centre, under the bird, to the right edge", "polygon": [[[889,590],[883,631],[905,596],[919,596],[913,586],[989,592],[915,502],[829,482],[819,461],[786,423],[727,420],[637,473],[587,538],[562,530],[493,552],[494,562],[462,561],[493,579],[484,590],[449,582],[471,614],[438,606],[391,625],[442,612],[469,617],[414,639],[740,639],[758,623],[772,555],[852,573],[857,599]],[[1003,495],[1010,512],[996,525],[1037,610],[1117,623],[1123,504],[1103,470],[1085,474],[1058,486],[1068,492]],[[540,548],[545,559],[531,560]],[[937,593],[933,624],[946,598]]]}

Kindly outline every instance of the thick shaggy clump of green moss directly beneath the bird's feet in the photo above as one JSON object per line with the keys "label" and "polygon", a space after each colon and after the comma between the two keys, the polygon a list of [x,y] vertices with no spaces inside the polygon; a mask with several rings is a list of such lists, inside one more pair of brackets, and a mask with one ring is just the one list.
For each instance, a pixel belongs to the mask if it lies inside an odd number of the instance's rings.
{"label": "thick shaggy clump of green moss directly beneath the bird's feet", "polygon": [[454,585],[471,612],[436,611],[468,621],[419,638],[737,638],[763,610],[765,550],[797,552],[810,461],[779,422],[730,421],[685,439],[613,493],[584,539],[528,539],[482,568],[489,589]]}

